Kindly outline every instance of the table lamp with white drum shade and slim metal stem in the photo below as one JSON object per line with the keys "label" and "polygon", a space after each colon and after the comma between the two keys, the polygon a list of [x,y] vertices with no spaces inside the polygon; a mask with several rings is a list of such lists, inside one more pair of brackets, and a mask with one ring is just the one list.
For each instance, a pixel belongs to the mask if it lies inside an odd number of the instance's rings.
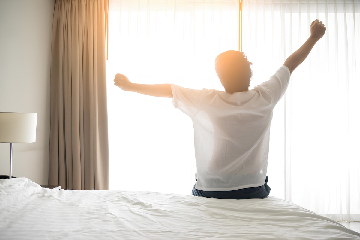
{"label": "table lamp with white drum shade and slim metal stem", "polygon": [[10,143],[10,175],[13,142],[35,142],[37,113],[0,112],[0,142]]}

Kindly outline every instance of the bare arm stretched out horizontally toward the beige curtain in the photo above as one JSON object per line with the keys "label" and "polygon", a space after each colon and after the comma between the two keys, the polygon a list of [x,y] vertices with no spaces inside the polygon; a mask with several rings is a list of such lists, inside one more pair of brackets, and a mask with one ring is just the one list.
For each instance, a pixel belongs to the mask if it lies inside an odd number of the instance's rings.
{"label": "bare arm stretched out horizontally toward the beige curtain", "polygon": [[124,91],[139,92],[155,97],[167,97],[173,98],[171,91],[171,84],[137,84],[132,83],[123,74],[116,74],[114,79],[114,85],[120,87]]}

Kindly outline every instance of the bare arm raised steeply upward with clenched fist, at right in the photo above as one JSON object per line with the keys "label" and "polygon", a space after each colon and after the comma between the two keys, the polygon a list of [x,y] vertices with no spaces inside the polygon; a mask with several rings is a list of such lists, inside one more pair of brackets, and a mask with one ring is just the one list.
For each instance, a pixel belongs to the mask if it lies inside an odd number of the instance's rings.
{"label": "bare arm raised steeply upward with clenched fist, at right", "polygon": [[307,55],[309,55],[312,47],[314,47],[316,42],[324,36],[325,31],[325,25],[318,19],[311,23],[309,39],[307,39],[306,42],[297,51],[295,51],[285,60],[284,65],[289,68],[290,73],[292,73],[295,68],[297,68],[305,60]]}

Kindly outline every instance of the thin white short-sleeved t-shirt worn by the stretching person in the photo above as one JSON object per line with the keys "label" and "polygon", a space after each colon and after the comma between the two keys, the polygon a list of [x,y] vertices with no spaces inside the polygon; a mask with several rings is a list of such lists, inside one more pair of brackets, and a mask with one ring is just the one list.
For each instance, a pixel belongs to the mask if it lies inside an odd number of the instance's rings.
{"label": "thin white short-sleeved t-shirt worn by the stretching person", "polygon": [[192,90],[171,85],[173,104],[193,120],[196,189],[231,191],[262,186],[273,109],[289,84],[282,66],[246,92]]}

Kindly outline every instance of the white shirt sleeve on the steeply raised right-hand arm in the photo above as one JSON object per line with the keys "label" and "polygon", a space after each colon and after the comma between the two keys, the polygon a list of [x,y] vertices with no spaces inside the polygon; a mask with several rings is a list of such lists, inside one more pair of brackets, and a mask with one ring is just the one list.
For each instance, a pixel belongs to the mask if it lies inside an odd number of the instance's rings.
{"label": "white shirt sleeve on the steeply raised right-hand arm", "polygon": [[285,94],[289,85],[290,76],[289,68],[282,66],[268,81],[261,83],[256,88],[269,94],[272,101],[276,104]]}

